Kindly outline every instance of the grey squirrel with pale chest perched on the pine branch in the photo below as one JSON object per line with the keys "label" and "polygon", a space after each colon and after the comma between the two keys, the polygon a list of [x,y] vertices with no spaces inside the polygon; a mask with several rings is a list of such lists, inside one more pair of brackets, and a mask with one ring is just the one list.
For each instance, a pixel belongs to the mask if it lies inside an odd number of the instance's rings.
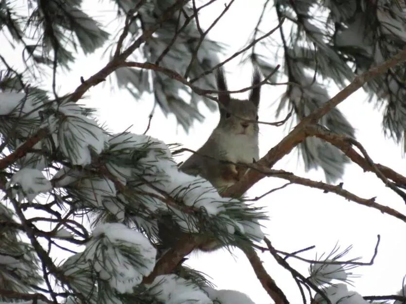
{"label": "grey squirrel with pale chest perched on the pine branch", "polygon": [[[254,121],[258,120],[260,79],[260,72],[255,69],[248,100],[233,99],[227,92],[223,70],[217,70],[220,121],[203,146],[181,164],[180,171],[201,176],[221,192],[235,184],[246,173],[247,167],[238,166],[238,163],[250,164],[259,159],[259,128],[258,123]],[[159,236],[165,247],[174,245],[177,236],[181,234],[171,221],[168,215],[163,216],[159,222]],[[220,247],[215,239],[208,237],[198,249],[210,252]]]}

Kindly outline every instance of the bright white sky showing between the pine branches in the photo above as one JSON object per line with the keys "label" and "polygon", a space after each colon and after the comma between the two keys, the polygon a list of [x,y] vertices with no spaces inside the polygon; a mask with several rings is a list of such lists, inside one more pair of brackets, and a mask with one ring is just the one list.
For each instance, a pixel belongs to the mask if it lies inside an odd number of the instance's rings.
{"label": "bright white sky showing between the pine branches", "polygon": [[[94,7],[94,1],[84,1],[85,11],[92,16],[100,18],[110,17],[113,11],[106,11],[108,6],[98,4]],[[91,2],[91,3],[90,3]],[[106,2],[106,1],[105,1]],[[217,1],[202,11],[202,26],[209,25],[224,8],[224,1]],[[229,45],[223,58],[239,50],[246,44],[248,36],[257,22],[262,9],[263,1],[236,0],[229,12],[212,29],[210,37]],[[111,6],[110,6],[111,7]],[[95,12],[96,10],[96,12]],[[277,25],[272,18],[264,19],[264,30],[270,30]],[[278,32],[273,34],[277,37]],[[91,76],[106,58],[100,59],[103,50],[85,58],[78,55],[78,60],[68,73],[59,73],[57,85],[61,93],[67,93],[80,84],[80,76],[85,79]],[[1,51],[2,55],[10,58],[10,51]],[[19,54],[16,60],[19,60]],[[239,66],[240,58],[236,58],[226,65],[228,84],[230,89],[239,89],[250,84],[251,67]],[[279,62],[282,64],[282,61]],[[107,82],[108,83],[108,82]],[[113,83],[115,83],[113,81]],[[271,104],[285,90],[284,86],[266,87],[262,90],[260,104],[260,119],[275,121],[275,106]],[[331,96],[337,90],[331,89]],[[246,96],[243,93],[241,96]],[[143,133],[148,115],[152,109],[153,97],[142,96],[142,100],[134,99],[125,91],[115,89],[110,91],[109,84],[98,85],[88,91],[88,99],[84,101],[88,106],[98,109],[97,116],[100,122],[106,122],[110,131],[121,132],[130,125],[134,133]],[[406,175],[405,159],[402,158],[401,147],[390,139],[384,139],[382,132],[382,115],[373,105],[366,101],[367,96],[362,91],[353,94],[348,100],[340,105],[349,121],[356,128],[356,137],[369,152],[372,160],[381,163],[399,173]],[[164,116],[156,111],[152,119],[148,135],[163,140],[166,143],[181,143],[186,148],[196,150],[212,132],[218,121],[217,113],[209,113],[202,108],[207,116],[204,123],[195,124],[189,134],[185,134],[177,127],[175,119]],[[260,126],[260,155],[263,156],[271,147],[278,143],[287,130],[283,127],[267,125]],[[276,164],[274,169],[293,171],[295,174],[308,177],[313,180],[323,180],[321,171],[305,173],[303,165],[298,162],[297,152],[292,152]],[[178,157],[184,160],[188,155]],[[363,197],[377,197],[376,202],[388,205],[406,214],[406,206],[402,200],[388,190],[383,183],[372,173],[364,173],[357,165],[348,165],[343,178],[344,188],[354,194]],[[266,178],[257,183],[248,191],[248,196],[255,197],[267,190],[280,186],[284,181],[276,178]],[[380,214],[377,210],[348,202],[335,194],[324,194],[321,190],[310,189],[304,186],[288,186],[272,193],[258,205],[264,206],[269,215],[269,221],[265,222],[265,232],[275,248],[293,252],[302,248],[316,245],[316,249],[303,253],[302,257],[314,258],[316,253],[330,252],[338,241],[341,248],[353,244],[353,250],[347,256],[353,258],[362,256],[362,261],[369,261],[376,243],[376,235],[381,235],[381,245],[375,264],[371,267],[357,268],[356,274],[362,274],[354,279],[354,288],[361,295],[384,295],[394,294],[402,287],[402,279],[406,274],[406,251],[405,223]],[[257,280],[247,258],[239,250],[231,257],[225,250],[215,253],[193,254],[187,261],[187,265],[196,270],[203,271],[212,277],[212,282],[218,289],[234,289],[245,292],[257,304],[271,303],[272,300],[266,294]],[[291,303],[300,303],[299,289],[294,283],[289,272],[277,265],[269,253],[259,253],[264,261],[265,269],[276,280],[276,283],[287,295]],[[289,258],[287,260],[304,276],[308,276],[308,265],[304,262]],[[351,289],[351,287],[350,287]]]}

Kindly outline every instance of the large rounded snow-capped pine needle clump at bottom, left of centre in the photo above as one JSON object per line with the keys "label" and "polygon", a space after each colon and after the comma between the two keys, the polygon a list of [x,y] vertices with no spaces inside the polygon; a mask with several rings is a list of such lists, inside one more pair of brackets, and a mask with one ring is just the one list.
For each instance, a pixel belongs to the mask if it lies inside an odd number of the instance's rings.
{"label": "large rounded snow-capped pine needle clump at bottom, left of centre", "polygon": [[[62,266],[72,276],[73,288],[91,297],[94,277],[104,289],[99,293],[132,293],[143,276],[155,266],[157,252],[145,236],[123,224],[106,223],[96,227],[82,253],[71,256]],[[104,297],[102,297],[104,298]]]}

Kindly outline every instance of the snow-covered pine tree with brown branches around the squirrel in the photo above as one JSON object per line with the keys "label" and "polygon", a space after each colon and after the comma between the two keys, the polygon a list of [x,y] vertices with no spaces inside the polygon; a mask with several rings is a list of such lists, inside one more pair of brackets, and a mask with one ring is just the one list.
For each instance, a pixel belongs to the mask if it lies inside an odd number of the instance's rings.
{"label": "snow-covered pine tree with brown branches around the squirrel", "polygon": [[[289,303],[290,295],[274,280],[277,274],[263,267],[257,250],[292,274],[303,303],[406,301],[404,290],[364,297],[349,290],[352,269],[373,263],[379,236],[370,263],[346,259],[351,247],[340,251],[338,245],[306,260],[299,255],[303,250],[273,247],[261,230],[267,215],[244,197],[257,181],[272,176],[287,180],[285,186],[333,192],[406,222],[405,215],[375,199],[332,184],[353,162],[406,201],[406,177],[375,164],[336,108],[363,87],[371,102],[385,108],[386,135],[402,142],[405,3],[265,0],[250,41],[220,60],[224,45],[209,32],[234,0],[202,28],[199,18],[215,1],[110,0],[112,21],[85,13],[87,1],[0,1],[1,45],[18,53],[13,58],[0,50],[2,303],[253,303],[239,291],[216,290],[204,270],[183,264],[202,236],[241,249],[278,304]],[[270,29],[264,20],[272,19],[277,22]],[[106,65],[62,93],[58,73],[97,50],[104,51]],[[154,110],[173,114],[187,131],[204,119],[200,103],[217,109],[214,72],[238,56],[261,70],[261,85],[286,85],[276,114],[287,116],[259,123],[295,128],[221,195],[208,181],[178,171],[173,156],[184,150],[177,145],[127,130],[112,134],[82,104],[90,88],[112,79],[134,102],[153,94]],[[331,98],[328,85],[341,92]],[[306,170],[321,168],[326,183],[272,169],[296,146]],[[174,238],[164,251],[162,223]],[[60,259],[59,253],[68,257]],[[292,268],[287,257],[308,263],[309,275]]]}

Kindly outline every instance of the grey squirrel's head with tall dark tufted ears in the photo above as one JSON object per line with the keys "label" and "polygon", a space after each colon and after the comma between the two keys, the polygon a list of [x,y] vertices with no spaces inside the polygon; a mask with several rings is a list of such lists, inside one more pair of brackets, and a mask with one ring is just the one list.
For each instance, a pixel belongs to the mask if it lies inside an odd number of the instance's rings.
{"label": "grey squirrel's head with tall dark tufted ears", "polygon": [[[260,83],[261,75],[258,69],[254,70],[252,85]],[[258,105],[260,100],[260,86],[253,87],[248,100],[230,98],[226,79],[222,69],[217,70],[216,75],[218,102],[220,109],[220,121],[217,130],[227,132],[230,135],[258,135]]]}

